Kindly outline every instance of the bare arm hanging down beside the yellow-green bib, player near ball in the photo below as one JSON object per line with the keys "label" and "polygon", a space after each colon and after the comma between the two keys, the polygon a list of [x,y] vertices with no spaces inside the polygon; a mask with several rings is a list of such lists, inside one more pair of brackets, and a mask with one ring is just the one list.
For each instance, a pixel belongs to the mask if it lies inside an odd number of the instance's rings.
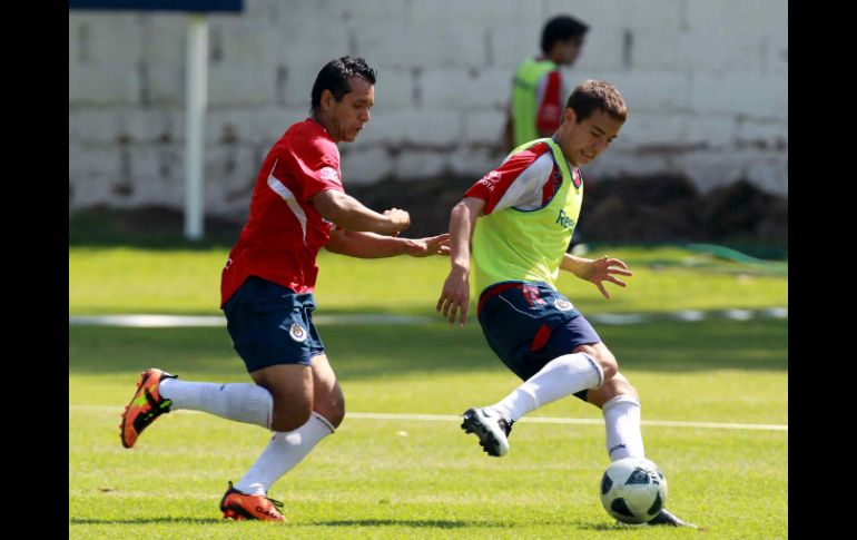
{"label": "bare arm hanging down beside the yellow-green bib, player near ball", "polygon": [[452,208],[450,215],[450,263],[452,268],[443,284],[441,297],[435,307],[450,324],[461,313],[460,324],[467,320],[470,300],[470,238],[476,225],[476,218],[485,207],[485,202],[475,197],[465,197]]}

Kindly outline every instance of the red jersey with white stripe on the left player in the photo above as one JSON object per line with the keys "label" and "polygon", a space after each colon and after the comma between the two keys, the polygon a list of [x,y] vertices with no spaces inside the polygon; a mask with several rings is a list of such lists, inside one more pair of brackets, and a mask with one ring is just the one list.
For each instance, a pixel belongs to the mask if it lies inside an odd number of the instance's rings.
{"label": "red jersey with white stripe on the left player", "polygon": [[345,190],[339,150],[327,130],[307,118],[286,130],[262,165],[249,217],[223,269],[220,306],[249,276],[313,292],[315,258],[331,239],[333,223],[309,198],[327,189]]}

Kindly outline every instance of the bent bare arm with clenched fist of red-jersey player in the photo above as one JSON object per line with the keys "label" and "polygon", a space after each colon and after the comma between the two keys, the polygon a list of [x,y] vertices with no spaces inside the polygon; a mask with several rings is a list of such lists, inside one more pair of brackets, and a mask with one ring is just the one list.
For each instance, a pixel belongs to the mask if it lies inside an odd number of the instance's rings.
{"label": "bent bare arm with clenched fist of red-jersey player", "polygon": [[348,230],[396,234],[411,225],[411,216],[405,210],[391,208],[378,214],[343,192],[327,189],[312,198],[315,208],[328,222]]}

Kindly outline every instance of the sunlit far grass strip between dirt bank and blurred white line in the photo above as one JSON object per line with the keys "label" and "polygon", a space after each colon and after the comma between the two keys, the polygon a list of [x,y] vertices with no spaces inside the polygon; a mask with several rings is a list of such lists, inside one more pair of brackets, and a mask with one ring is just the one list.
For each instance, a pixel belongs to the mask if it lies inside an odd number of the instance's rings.
{"label": "sunlit far grass strip between dirt bank and blurred white line", "polygon": [[[753,274],[755,267],[726,261],[698,268],[698,253],[674,247],[605,252],[624,259],[634,275],[624,289],[608,284],[612,298],[607,301],[591,284],[562,273],[560,291],[583,313],[788,306],[784,275]],[[69,314],[217,314],[227,255],[227,248],[70,248]],[[449,272],[445,257],[354,259],[325,251],[318,265],[318,313],[431,314]]]}

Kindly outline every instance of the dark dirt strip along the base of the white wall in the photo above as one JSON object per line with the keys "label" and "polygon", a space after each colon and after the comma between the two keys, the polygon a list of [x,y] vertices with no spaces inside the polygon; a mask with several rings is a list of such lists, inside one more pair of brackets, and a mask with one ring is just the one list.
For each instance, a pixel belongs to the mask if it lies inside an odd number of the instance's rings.
{"label": "dark dirt strip along the base of the white wall", "polygon": [[[445,232],[450,209],[474,178],[386,180],[347,186],[370,208],[391,207],[411,213],[406,236]],[[232,244],[245,216],[206,217],[206,243]],[[712,242],[788,245],[788,199],[737,181],[700,195],[682,177],[652,176],[590,181],[583,199],[580,230],[585,242]],[[145,207],[118,210],[91,208],[69,216],[69,242],[168,242],[180,238],[179,209]]]}

